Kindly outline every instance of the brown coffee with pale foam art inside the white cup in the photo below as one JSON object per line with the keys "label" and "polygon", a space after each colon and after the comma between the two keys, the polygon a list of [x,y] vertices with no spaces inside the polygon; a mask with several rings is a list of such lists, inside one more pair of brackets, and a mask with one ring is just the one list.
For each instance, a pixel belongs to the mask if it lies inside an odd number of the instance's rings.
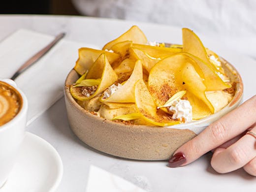
{"label": "brown coffee with pale foam art inside the white cup", "polygon": [[0,81],[0,126],[12,120],[22,107],[22,96],[11,85]]}

